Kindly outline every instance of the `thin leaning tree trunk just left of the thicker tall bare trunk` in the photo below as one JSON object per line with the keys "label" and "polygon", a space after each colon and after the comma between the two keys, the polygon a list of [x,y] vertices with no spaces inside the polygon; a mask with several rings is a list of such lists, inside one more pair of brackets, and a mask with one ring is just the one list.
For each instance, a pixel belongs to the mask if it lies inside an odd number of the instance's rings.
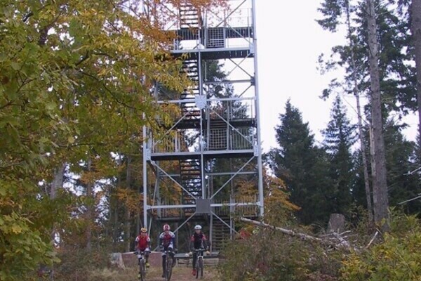
{"label": "thin leaning tree trunk just left of the thicker tall bare trunk", "polygon": [[352,41],[352,30],[351,30],[351,19],[349,13],[349,2],[346,2],[346,12],[347,12],[347,28],[348,28],[348,38],[349,46],[351,47],[351,65],[352,65],[352,79],[354,80],[354,96],[356,99],[356,111],[358,115],[358,130],[359,130],[359,140],[361,145],[361,155],[363,158],[363,173],[364,173],[364,187],[366,189],[366,200],[367,200],[367,209],[368,209],[368,221],[373,223],[373,206],[371,204],[371,190],[370,182],[368,179],[368,164],[367,164],[367,155],[366,155],[366,143],[364,143],[363,136],[363,118],[361,116],[361,105],[359,99],[359,83],[356,76],[356,63],[355,63],[355,53],[354,53],[354,41]]}

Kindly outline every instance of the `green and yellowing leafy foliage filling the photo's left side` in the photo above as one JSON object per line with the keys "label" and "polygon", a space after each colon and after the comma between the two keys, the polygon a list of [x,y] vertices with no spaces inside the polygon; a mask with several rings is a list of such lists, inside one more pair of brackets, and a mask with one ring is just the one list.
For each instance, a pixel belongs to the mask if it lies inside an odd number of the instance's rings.
{"label": "green and yellowing leafy foliage filling the photo's left side", "polygon": [[177,63],[155,60],[171,46],[161,25],[145,25],[122,5],[0,6],[1,280],[25,280],[37,264],[54,261],[51,231],[69,217],[60,211],[74,207],[48,200],[57,166],[80,169],[91,155],[98,160],[91,181],[115,174],[112,152],[138,152],[149,122],[142,116],[162,114],[149,93],[154,79],[185,88]]}

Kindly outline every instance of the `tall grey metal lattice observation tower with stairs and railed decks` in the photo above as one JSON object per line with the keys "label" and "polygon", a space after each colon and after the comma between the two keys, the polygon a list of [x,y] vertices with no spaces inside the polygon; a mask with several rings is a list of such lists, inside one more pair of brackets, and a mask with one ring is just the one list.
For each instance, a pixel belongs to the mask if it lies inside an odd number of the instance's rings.
{"label": "tall grey metal lattice observation tower with stairs and railed decks", "polygon": [[[156,84],[157,102],[178,116],[165,136],[143,129],[144,225],[201,223],[214,250],[236,233],[234,216],[263,214],[255,0],[227,2],[218,12],[180,7],[172,53],[193,86]],[[211,77],[222,63],[225,76]]]}

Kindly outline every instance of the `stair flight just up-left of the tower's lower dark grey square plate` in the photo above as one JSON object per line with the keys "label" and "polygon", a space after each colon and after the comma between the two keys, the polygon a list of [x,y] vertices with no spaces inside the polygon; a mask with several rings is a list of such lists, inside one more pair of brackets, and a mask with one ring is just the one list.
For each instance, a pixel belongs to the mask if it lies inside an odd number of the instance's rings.
{"label": "stair flight just up-left of the tower's lower dark grey square plate", "polygon": [[[202,195],[201,165],[197,159],[180,159],[180,184],[194,197]],[[182,191],[182,204],[196,204],[185,190]],[[185,208],[185,216],[192,216],[195,208]]]}

